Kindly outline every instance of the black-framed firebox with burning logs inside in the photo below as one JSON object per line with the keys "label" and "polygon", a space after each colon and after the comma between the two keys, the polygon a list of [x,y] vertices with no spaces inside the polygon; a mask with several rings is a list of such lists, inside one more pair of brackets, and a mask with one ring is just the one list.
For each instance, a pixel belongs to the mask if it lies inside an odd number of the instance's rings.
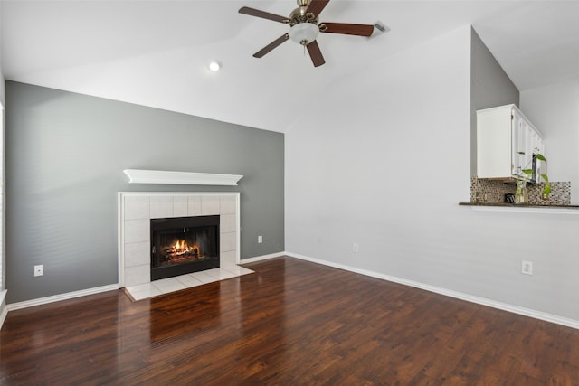
{"label": "black-framed firebox with burning logs inside", "polygon": [[219,268],[220,216],[151,219],[151,281]]}

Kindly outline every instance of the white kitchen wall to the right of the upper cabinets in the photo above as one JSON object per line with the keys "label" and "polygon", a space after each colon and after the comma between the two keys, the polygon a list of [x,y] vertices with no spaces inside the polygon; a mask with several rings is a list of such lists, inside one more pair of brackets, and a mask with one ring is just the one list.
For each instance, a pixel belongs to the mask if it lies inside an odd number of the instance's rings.
{"label": "white kitchen wall to the right of the upper cabinets", "polygon": [[545,137],[551,181],[571,181],[579,203],[579,80],[521,91],[520,107]]}

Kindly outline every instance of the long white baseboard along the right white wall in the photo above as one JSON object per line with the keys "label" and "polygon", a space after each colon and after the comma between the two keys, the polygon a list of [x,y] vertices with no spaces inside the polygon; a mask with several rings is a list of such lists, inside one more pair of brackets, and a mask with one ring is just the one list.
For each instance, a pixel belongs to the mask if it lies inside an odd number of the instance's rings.
{"label": "long white baseboard along the right white wall", "polygon": [[433,293],[444,295],[447,297],[454,297],[454,298],[457,298],[460,300],[466,300],[468,302],[476,303],[476,304],[479,304],[482,306],[489,306],[489,307],[493,307],[493,308],[498,308],[500,310],[512,312],[514,314],[525,315],[525,316],[533,317],[535,319],[545,320],[546,322],[555,323],[557,325],[565,325],[567,327],[579,329],[579,321],[578,320],[569,319],[569,318],[566,318],[563,316],[547,314],[547,313],[544,313],[541,311],[536,311],[536,310],[521,307],[521,306],[513,306],[513,305],[509,305],[507,303],[501,303],[501,302],[498,302],[495,300],[491,300],[491,299],[488,299],[486,297],[475,297],[475,296],[472,296],[469,294],[464,294],[461,292],[453,291],[451,289],[446,289],[446,288],[442,288],[442,287],[435,287],[435,286],[423,284],[423,283],[420,283],[417,281],[407,280],[405,278],[398,278],[398,277],[390,276],[390,275],[384,275],[381,273],[377,273],[377,272],[373,272],[373,271],[369,271],[369,270],[365,270],[365,269],[354,268],[354,267],[350,267],[350,266],[346,266],[346,265],[342,265],[342,264],[337,264],[337,263],[327,261],[327,260],[309,258],[308,256],[303,256],[303,255],[299,255],[296,253],[286,252],[286,255],[291,257],[291,258],[307,260],[307,261],[310,261],[312,263],[317,263],[317,264],[325,265],[328,267],[344,269],[346,271],[359,273],[361,275],[369,276],[372,278],[380,278],[380,279],[383,279],[386,281],[391,281],[393,283],[403,284],[404,286],[420,288],[420,289],[423,289],[425,291],[433,292]]}

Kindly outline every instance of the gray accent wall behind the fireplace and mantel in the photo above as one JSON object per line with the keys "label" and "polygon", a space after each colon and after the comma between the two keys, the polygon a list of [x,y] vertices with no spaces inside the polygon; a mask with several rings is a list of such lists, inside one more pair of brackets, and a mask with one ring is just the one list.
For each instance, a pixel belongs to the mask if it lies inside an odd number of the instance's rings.
{"label": "gray accent wall behind the fireplace and mantel", "polygon": [[[9,304],[118,283],[118,192],[241,192],[242,259],[284,250],[281,133],[7,81],[5,139]],[[123,169],[244,177],[128,184]]]}

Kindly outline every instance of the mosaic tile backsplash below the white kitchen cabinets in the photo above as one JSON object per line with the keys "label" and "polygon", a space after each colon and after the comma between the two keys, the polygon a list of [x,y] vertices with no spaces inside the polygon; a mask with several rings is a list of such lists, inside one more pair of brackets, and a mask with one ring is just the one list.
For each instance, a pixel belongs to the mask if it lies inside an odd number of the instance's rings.
{"label": "mosaic tile backsplash below the white kitchen cabinets", "polygon": [[[547,200],[541,198],[545,183],[527,184],[528,203],[531,205],[571,205],[571,182],[551,183],[551,194]],[[515,194],[516,185],[502,181],[470,178],[470,202],[505,202],[505,194]]]}

